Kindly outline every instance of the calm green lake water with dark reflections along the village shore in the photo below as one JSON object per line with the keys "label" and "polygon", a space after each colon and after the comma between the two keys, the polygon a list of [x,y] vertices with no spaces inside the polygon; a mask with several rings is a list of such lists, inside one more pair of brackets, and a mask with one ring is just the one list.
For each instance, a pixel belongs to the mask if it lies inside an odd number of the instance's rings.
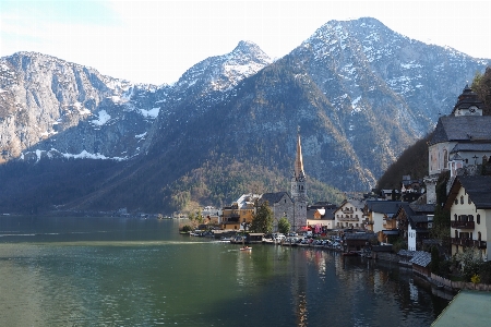
{"label": "calm green lake water with dark reflections along the village shore", "polygon": [[182,237],[178,220],[0,217],[2,326],[429,326],[397,265]]}

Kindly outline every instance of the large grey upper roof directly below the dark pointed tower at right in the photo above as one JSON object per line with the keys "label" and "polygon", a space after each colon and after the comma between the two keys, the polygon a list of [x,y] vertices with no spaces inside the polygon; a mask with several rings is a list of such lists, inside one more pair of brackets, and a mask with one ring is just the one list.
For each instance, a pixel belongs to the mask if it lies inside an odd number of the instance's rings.
{"label": "large grey upper roof directly below the dark pointed tower at right", "polygon": [[439,119],[429,144],[491,142],[491,116],[445,116]]}

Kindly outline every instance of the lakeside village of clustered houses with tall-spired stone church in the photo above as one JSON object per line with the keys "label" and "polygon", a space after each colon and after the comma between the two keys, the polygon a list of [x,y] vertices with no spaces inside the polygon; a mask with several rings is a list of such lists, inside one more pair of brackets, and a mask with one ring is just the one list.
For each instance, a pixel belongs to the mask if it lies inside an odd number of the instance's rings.
{"label": "lakeside village of clustered houses with tall-spired stone church", "polygon": [[[279,219],[287,218],[292,232],[335,234],[342,238],[339,249],[345,252],[370,251],[374,257],[396,253],[396,261],[412,264],[428,277],[433,251],[438,251],[433,262],[464,253],[489,262],[491,117],[482,110],[483,102],[466,85],[452,112],[439,119],[428,143],[428,175],[423,180],[403,175],[400,190],[346,196],[339,205],[308,205],[299,133],[290,193],[243,194],[230,206],[206,207],[202,215],[225,231],[243,231],[258,207],[267,203],[273,231],[278,230]],[[438,265],[433,270],[439,270]],[[472,274],[477,275],[476,269]]]}

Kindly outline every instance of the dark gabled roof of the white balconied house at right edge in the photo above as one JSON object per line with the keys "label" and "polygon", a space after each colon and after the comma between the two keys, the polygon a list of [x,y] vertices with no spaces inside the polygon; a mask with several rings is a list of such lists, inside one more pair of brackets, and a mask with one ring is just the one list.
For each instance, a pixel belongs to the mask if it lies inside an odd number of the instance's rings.
{"label": "dark gabled roof of the white balconied house at right edge", "polygon": [[460,187],[466,190],[477,209],[491,208],[491,175],[458,175],[448,193],[446,209],[452,207]]}

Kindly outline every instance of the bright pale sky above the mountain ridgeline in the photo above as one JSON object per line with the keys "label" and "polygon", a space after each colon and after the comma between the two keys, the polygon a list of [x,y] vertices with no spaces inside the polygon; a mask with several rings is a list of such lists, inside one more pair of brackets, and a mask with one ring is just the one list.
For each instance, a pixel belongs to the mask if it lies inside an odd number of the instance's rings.
{"label": "bright pale sky above the mountain ridgeline", "polygon": [[370,16],[410,38],[491,59],[490,13],[489,0],[0,0],[0,57],[35,51],[161,85],[240,40],[276,59],[332,20]]}

